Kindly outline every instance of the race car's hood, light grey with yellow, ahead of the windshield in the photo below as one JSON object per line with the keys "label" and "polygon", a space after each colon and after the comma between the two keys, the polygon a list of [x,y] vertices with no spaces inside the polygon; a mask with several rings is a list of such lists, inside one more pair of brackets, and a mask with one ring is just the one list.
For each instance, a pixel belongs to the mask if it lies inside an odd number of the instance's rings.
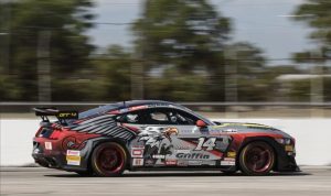
{"label": "race car's hood, light grey with yellow, ahead of the windshield", "polygon": [[281,134],[285,138],[292,138],[288,133],[280,131],[279,129],[259,124],[259,123],[241,123],[241,122],[216,122],[217,126],[213,126],[212,130],[217,130],[228,133],[274,133]]}

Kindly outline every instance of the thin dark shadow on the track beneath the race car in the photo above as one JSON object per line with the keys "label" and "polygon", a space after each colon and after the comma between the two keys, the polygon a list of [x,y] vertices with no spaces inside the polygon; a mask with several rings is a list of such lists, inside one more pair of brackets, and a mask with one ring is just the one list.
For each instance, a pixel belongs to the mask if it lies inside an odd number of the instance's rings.
{"label": "thin dark shadow on the track beneath the race car", "polygon": [[[312,175],[306,172],[284,172],[284,173],[270,173],[268,176],[303,176],[303,175]],[[46,174],[46,177],[98,177],[98,176],[82,176],[75,173],[61,173],[61,174]],[[119,177],[232,177],[232,176],[246,176],[241,172],[235,174],[225,174],[222,172],[126,172],[124,175]],[[252,176],[252,177],[259,177],[259,176]]]}

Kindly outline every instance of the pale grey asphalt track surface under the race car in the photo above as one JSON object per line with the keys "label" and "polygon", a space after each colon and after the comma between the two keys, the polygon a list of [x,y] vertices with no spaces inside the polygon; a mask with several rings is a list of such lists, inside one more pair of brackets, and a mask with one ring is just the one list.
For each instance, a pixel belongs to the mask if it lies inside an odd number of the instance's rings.
{"label": "pale grey asphalt track surface under the race car", "polygon": [[130,172],[122,177],[81,177],[41,167],[1,167],[1,195],[331,195],[331,166],[301,173],[226,176],[221,172]]}

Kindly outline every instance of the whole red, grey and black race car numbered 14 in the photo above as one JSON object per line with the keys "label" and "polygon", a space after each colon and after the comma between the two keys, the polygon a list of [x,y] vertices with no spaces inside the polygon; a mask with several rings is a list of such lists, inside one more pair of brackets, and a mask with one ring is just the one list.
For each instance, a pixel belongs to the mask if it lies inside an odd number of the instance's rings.
{"label": "whole red, grey and black race car numbered 14", "polygon": [[212,121],[173,102],[131,100],[84,112],[34,110],[42,122],[32,156],[44,167],[98,176],[120,176],[126,170],[300,171],[289,134],[257,123]]}

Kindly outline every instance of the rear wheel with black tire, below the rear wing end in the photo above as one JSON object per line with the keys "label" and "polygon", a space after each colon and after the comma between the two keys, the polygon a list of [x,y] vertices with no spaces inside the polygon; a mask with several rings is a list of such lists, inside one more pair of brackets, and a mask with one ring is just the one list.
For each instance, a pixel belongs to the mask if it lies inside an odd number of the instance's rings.
{"label": "rear wheel with black tire, below the rear wing end", "polygon": [[99,144],[92,154],[92,167],[96,175],[119,176],[127,165],[126,150],[116,142]]}

